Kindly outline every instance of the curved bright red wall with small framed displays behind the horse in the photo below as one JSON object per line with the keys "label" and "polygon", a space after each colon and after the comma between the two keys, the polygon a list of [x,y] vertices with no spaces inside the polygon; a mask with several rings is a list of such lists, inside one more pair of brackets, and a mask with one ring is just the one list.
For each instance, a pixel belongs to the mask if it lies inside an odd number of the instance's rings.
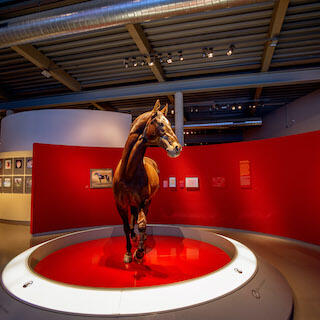
{"label": "curved bright red wall with small framed displays behind the horse", "polygon": [[[148,149],[161,187],[150,223],[207,225],[270,233],[320,244],[320,131],[213,146],[185,147],[179,158]],[[90,168],[115,169],[122,150],[34,145],[31,232],[121,223],[111,189],[90,189]],[[239,161],[251,164],[241,188]],[[163,188],[176,177],[177,188]],[[185,177],[200,188],[180,188]],[[224,177],[217,188],[212,178]]]}

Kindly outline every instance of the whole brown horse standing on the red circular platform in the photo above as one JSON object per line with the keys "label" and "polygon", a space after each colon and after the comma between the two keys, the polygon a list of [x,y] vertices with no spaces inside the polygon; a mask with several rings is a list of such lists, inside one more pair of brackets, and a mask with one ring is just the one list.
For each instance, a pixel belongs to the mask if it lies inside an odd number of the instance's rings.
{"label": "whole brown horse standing on the red circular platform", "polygon": [[146,216],[151,198],[159,189],[158,166],[155,161],[144,156],[147,147],[162,147],[169,157],[177,157],[182,149],[166,118],[167,113],[168,105],[160,110],[160,101],[157,100],[152,111],[143,113],[133,122],[122,158],[114,173],[113,193],[127,240],[125,263],[132,261],[130,236],[132,240],[136,239],[134,232],[136,223],[139,230],[139,243],[134,257],[137,262],[140,262],[144,256]]}

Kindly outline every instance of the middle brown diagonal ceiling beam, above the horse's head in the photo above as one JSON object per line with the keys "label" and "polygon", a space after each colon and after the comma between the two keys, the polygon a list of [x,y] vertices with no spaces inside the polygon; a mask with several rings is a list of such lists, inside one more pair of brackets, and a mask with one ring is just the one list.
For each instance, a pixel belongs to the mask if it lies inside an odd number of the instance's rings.
{"label": "middle brown diagonal ceiling beam, above the horse's head", "polygon": [[[150,62],[150,55],[152,55],[153,50],[152,50],[151,44],[150,44],[147,36],[145,35],[141,25],[138,23],[136,23],[136,24],[130,23],[130,24],[126,25],[126,28],[129,32],[131,38],[133,39],[133,41],[137,45],[141,54],[147,56],[148,62]],[[149,67],[159,82],[166,81],[161,63],[157,57],[154,57],[153,65],[150,66],[150,64],[149,64]],[[172,104],[174,104],[174,96],[168,95],[168,98],[169,98],[169,101]]]}

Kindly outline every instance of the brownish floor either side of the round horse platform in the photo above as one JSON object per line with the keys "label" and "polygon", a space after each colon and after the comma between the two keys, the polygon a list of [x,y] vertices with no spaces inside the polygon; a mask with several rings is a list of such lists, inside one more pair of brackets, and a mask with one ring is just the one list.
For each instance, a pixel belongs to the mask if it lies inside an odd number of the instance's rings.
{"label": "brownish floor either side of the round horse platform", "polygon": [[[282,273],[293,291],[294,320],[320,319],[319,246],[250,232],[225,229],[208,230],[242,242]],[[0,222],[0,271],[20,252],[57,236],[58,234],[32,237],[29,233],[29,226]],[[1,299],[6,293],[3,292],[2,287],[0,290],[0,319],[24,318],[23,308],[18,308],[14,313],[8,311],[10,308],[6,306],[7,302],[4,303]],[[25,308],[28,308],[30,312],[30,308],[33,307],[25,305]],[[38,314],[39,310],[34,308],[34,312]],[[65,317],[61,314],[57,317],[57,319],[62,318]]]}

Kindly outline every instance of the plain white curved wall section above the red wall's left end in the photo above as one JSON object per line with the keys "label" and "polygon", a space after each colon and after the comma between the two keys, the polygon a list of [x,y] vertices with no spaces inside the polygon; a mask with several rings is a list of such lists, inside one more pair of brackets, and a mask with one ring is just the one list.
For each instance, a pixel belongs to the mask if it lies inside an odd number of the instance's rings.
{"label": "plain white curved wall section above the red wall's left end", "polygon": [[0,151],[32,150],[34,142],[123,147],[131,115],[96,110],[34,110],[11,114],[1,122]]}

